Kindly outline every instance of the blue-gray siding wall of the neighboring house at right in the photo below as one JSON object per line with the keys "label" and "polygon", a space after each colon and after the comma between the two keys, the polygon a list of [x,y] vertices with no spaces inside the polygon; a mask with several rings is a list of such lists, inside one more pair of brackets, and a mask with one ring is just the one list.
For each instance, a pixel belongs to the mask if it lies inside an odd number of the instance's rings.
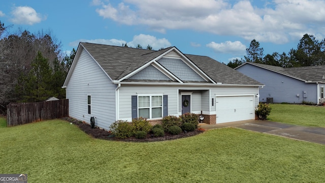
{"label": "blue-gray siding wall of the neighboring house at right", "polygon": [[[260,102],[266,102],[267,98],[273,98],[274,103],[302,103],[303,101],[317,103],[317,84],[315,83],[305,83],[305,81],[249,64],[236,70],[265,84],[264,88],[259,90]],[[307,93],[307,97],[306,95],[304,97],[304,91]]]}

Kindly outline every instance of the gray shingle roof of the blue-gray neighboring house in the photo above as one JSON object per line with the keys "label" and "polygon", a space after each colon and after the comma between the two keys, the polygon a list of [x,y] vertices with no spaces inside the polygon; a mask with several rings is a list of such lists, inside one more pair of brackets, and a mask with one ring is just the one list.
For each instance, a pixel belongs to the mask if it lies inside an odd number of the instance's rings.
{"label": "gray shingle roof of the blue-gray neighboring house", "polygon": [[248,64],[273,70],[288,76],[299,78],[304,81],[325,82],[325,79],[323,79],[325,75],[325,66],[282,68],[277,66],[269,66],[265,64],[256,64],[256,63],[248,63]]}

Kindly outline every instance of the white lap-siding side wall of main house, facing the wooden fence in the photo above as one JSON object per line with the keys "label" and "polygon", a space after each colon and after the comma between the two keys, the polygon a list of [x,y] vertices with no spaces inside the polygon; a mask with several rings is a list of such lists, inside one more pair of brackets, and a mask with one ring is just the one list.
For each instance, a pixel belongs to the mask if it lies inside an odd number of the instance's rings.
{"label": "white lap-siding side wall of main house, facing the wooden fence", "polygon": [[[104,129],[115,121],[115,88],[108,76],[83,50],[67,85],[69,115],[90,123],[95,117],[95,125]],[[87,95],[91,96],[91,114],[87,113]]]}

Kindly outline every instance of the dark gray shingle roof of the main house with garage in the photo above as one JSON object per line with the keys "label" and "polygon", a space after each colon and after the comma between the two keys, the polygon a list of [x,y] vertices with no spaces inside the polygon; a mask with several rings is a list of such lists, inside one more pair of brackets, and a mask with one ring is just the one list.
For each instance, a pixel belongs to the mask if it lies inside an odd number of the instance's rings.
{"label": "dark gray shingle roof of the main house with garage", "polygon": [[[120,46],[80,43],[113,80],[133,72],[172,47],[154,51]],[[215,82],[222,84],[263,85],[258,81],[208,56],[184,54]]]}

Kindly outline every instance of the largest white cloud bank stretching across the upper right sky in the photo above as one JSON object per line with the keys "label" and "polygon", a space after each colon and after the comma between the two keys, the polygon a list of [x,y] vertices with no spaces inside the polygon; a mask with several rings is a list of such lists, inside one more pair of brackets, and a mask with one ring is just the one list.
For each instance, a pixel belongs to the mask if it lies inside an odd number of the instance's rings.
{"label": "largest white cloud bank stretching across the upper right sky", "polygon": [[127,25],[147,25],[160,33],[193,29],[272,43],[297,39],[291,35],[301,32],[325,37],[325,1],[320,0],[274,0],[260,8],[246,0],[123,0],[116,6],[94,2],[100,6],[96,12],[104,18]]}

